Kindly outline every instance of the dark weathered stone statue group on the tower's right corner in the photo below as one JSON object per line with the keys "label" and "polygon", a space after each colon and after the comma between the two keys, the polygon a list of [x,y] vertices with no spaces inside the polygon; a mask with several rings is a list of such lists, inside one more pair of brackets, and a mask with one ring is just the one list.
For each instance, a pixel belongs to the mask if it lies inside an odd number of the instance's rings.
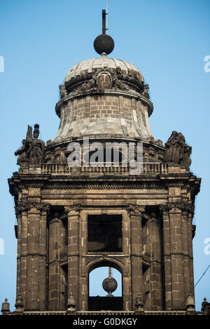
{"label": "dark weathered stone statue group on the tower's right corner", "polygon": [[189,170],[192,147],[186,144],[186,139],[182,133],[172,131],[172,135],[165,143],[164,161],[167,163],[176,163]]}

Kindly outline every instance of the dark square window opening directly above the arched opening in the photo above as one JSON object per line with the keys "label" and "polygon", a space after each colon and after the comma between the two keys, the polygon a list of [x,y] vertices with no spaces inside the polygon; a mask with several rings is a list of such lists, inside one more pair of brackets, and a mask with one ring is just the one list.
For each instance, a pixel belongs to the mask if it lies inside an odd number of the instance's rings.
{"label": "dark square window opening directly above the arched opening", "polygon": [[122,215],[87,216],[87,251],[123,251]]}

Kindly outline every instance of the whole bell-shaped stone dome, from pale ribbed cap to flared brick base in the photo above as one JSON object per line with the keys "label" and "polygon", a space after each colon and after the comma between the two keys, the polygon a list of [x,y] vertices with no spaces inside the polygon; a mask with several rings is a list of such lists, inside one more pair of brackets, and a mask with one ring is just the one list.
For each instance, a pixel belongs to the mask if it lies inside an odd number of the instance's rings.
{"label": "whole bell-shaped stone dome, from pale ribbed cap to flared brick base", "polygon": [[59,85],[55,111],[61,121],[55,142],[102,134],[151,140],[148,88],[139,69],[125,60],[102,53],[79,62]]}

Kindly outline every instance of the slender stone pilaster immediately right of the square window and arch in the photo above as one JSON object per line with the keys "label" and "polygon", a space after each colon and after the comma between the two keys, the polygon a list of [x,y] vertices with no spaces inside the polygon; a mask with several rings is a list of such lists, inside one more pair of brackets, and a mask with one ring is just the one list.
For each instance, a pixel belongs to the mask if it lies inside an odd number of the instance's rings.
{"label": "slender stone pilaster immediately right of the square window and arch", "polygon": [[142,206],[130,204],[128,212],[130,216],[130,259],[131,259],[131,293],[132,309],[135,309],[138,293],[143,294],[142,286],[142,258],[141,258],[141,213],[145,210]]}

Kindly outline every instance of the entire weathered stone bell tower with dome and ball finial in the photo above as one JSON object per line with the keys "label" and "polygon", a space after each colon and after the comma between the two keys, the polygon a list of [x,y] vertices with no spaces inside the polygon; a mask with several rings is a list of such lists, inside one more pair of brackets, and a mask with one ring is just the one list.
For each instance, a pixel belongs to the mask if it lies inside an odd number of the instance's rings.
{"label": "entire weathered stone bell tower with dome and ball finial", "polygon": [[102,266],[122,275],[122,297],[116,304],[109,294],[106,309],[184,311],[193,292],[200,178],[190,172],[192,149],[176,131],[165,146],[154,139],[149,86],[136,66],[109,57],[105,14],[99,56],[74,65],[59,86],[55,140],[45,145],[38,124],[33,135],[29,126],[15,152],[20,169],[8,184],[26,313],[99,310],[89,274]]}

